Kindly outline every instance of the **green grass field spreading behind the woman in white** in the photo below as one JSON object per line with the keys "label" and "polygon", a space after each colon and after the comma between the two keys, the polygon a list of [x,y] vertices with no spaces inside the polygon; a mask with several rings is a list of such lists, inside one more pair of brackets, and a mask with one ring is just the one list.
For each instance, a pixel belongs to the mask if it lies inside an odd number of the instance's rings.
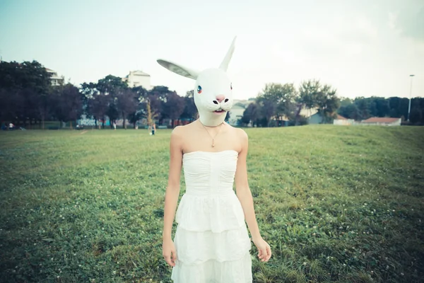
{"label": "green grass field spreading behind the woman in white", "polygon": [[[423,282],[423,127],[246,132],[273,249],[265,264],[254,257],[254,282]],[[1,132],[0,282],[171,282],[161,250],[169,139]]]}

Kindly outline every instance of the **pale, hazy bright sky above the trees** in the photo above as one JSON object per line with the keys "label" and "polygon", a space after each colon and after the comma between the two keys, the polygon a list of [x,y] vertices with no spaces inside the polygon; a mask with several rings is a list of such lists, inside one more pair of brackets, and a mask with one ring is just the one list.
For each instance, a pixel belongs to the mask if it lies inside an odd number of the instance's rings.
{"label": "pale, hazy bright sky above the trees", "polygon": [[156,59],[218,67],[235,36],[234,99],[308,79],[348,98],[408,98],[412,81],[424,97],[423,0],[0,0],[2,59],[76,85],[141,70],[184,96],[194,81]]}

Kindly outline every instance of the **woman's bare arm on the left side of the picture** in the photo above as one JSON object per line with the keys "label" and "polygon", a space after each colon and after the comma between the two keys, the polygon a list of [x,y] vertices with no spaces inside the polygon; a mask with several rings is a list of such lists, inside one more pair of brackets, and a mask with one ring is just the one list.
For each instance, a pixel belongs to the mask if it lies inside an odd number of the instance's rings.
{"label": "woman's bare arm on the left side of the picture", "polygon": [[[182,168],[182,135],[179,127],[171,134],[170,141],[170,171],[165,192],[165,208],[163,216],[163,257],[171,266],[175,266],[177,253],[172,243],[172,223],[175,218],[179,196],[179,178]],[[171,261],[172,253],[172,261]]]}

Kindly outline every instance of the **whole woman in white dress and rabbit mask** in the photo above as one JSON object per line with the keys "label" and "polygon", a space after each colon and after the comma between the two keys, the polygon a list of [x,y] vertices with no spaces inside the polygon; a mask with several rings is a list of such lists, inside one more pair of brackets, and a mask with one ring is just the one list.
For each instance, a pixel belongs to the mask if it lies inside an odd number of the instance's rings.
{"label": "whole woman in white dress and rabbit mask", "polygon": [[[163,257],[172,266],[175,283],[252,283],[247,226],[259,260],[271,258],[247,182],[247,134],[224,122],[232,106],[232,84],[225,71],[233,50],[234,41],[220,68],[200,73],[158,60],[163,67],[196,79],[194,103],[199,112],[198,120],[176,127],[170,139]],[[183,166],[186,191],[177,209]],[[174,218],[178,226],[172,241]]]}

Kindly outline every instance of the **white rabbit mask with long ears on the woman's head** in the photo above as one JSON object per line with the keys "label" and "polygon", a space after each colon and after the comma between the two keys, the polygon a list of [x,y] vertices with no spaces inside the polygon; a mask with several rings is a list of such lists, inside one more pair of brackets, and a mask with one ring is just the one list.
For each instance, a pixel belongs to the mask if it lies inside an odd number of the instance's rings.
{"label": "white rabbit mask with long ears on the woman's head", "polygon": [[200,122],[208,127],[216,127],[225,120],[225,115],[232,107],[232,84],[226,73],[232,53],[235,48],[235,38],[230,50],[225,55],[219,68],[195,71],[180,64],[158,59],[158,63],[166,69],[196,80],[194,84],[194,104],[199,111]]}

